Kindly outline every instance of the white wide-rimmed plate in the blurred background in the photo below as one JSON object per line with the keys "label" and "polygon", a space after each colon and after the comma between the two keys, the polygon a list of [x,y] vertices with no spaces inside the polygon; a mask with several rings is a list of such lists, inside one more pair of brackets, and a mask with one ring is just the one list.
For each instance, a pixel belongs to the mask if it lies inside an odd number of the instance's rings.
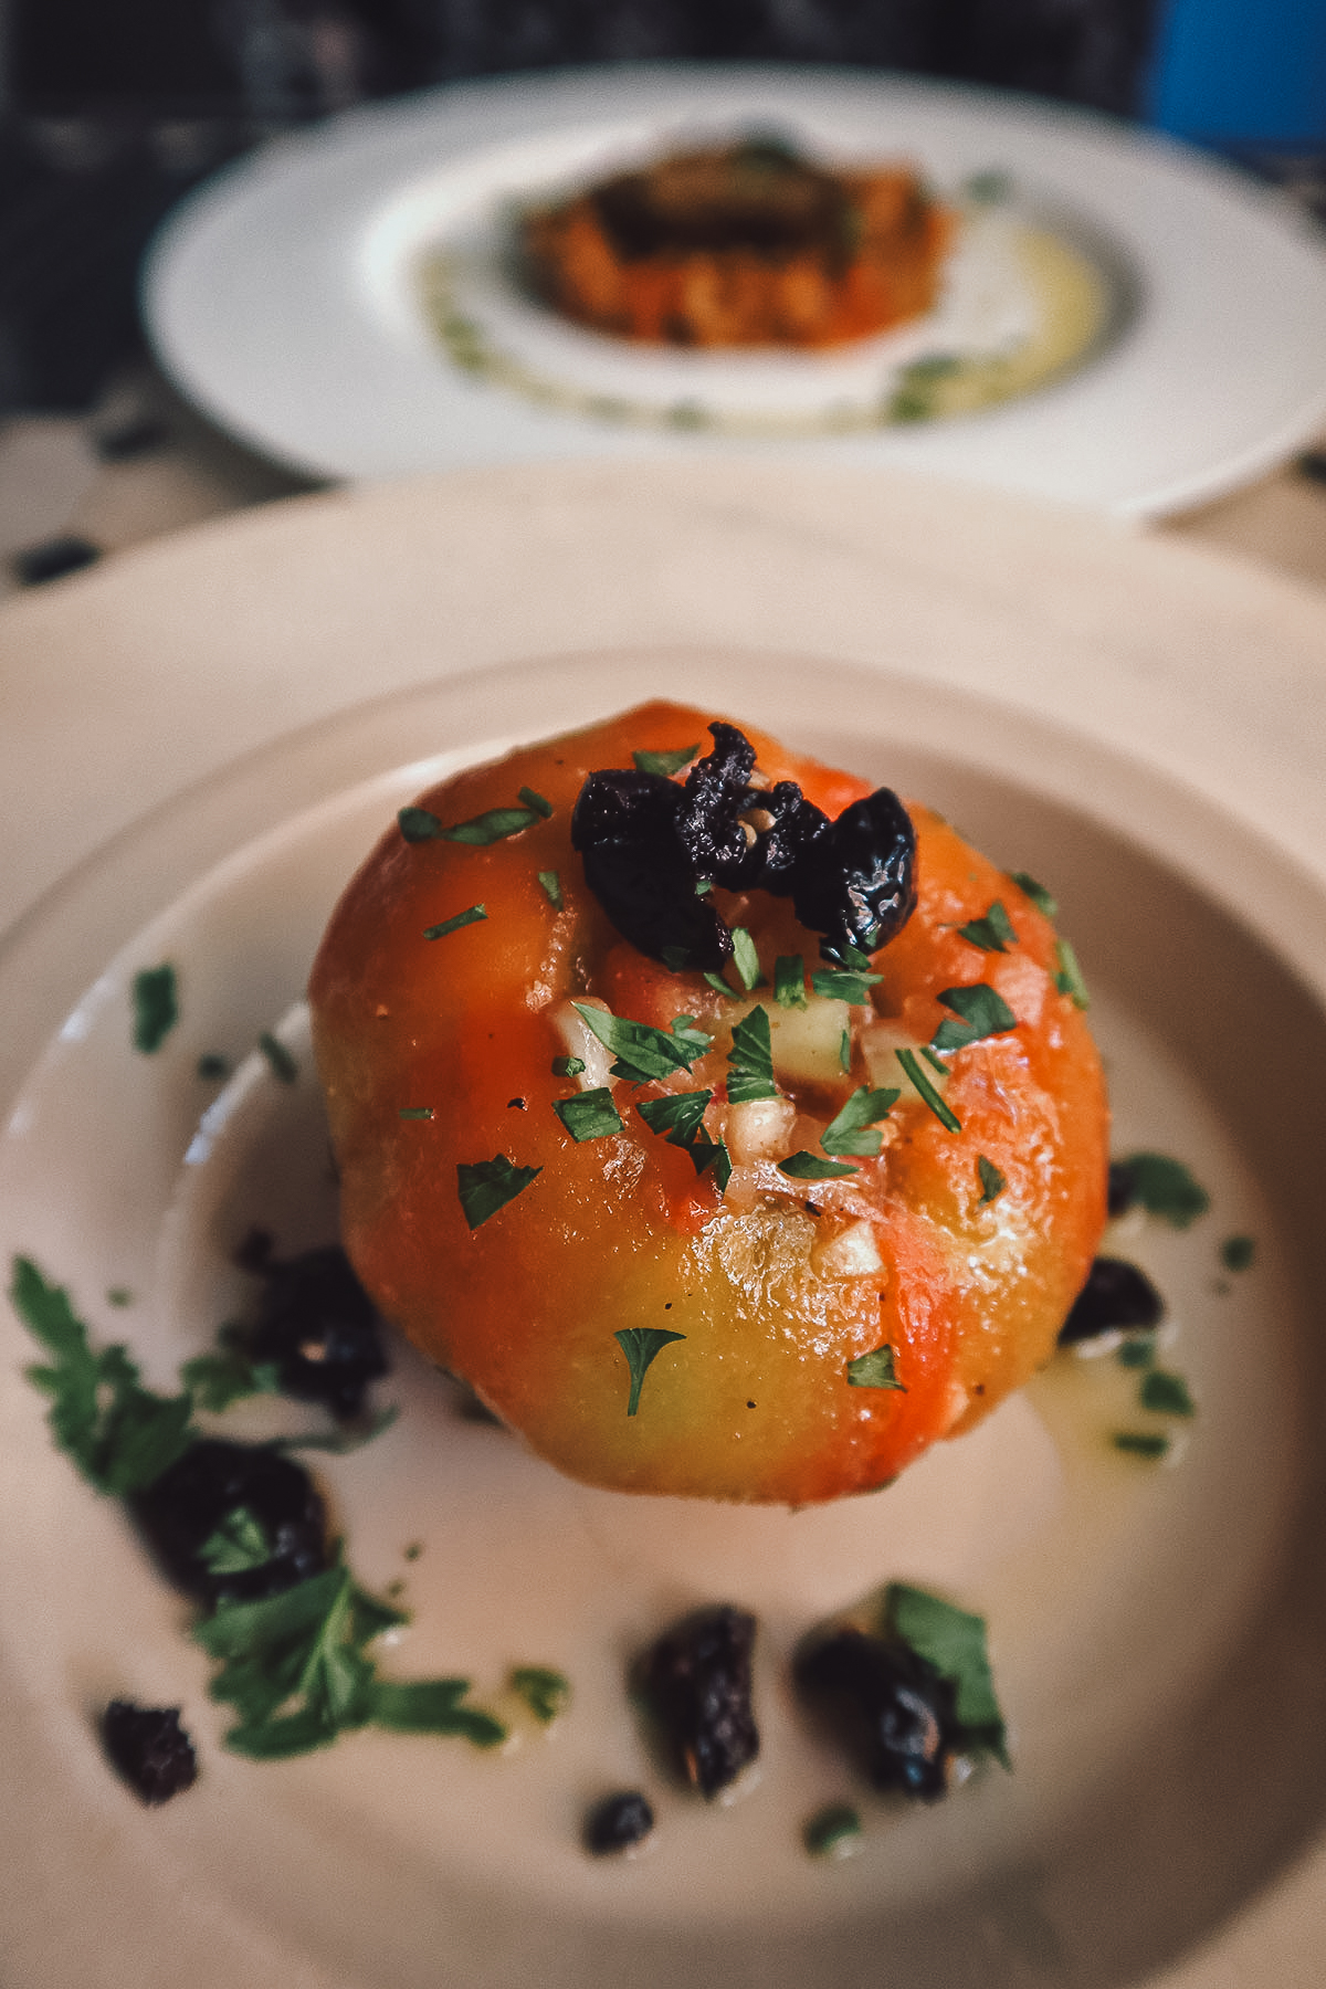
{"label": "white wide-rimmed plate in the blurred background", "polygon": [[[934,326],[861,356],[660,358],[557,324],[501,278],[507,201],[678,133],[751,125],[829,155],[911,157],[950,193],[1008,175],[1018,203],[1099,269],[1113,332],[1022,400],[871,428],[889,368],[944,350],[952,300]],[[467,330],[449,352],[423,310],[421,265],[439,241],[463,265],[443,314]],[[1022,308],[1006,278],[992,320]],[[704,438],[1149,515],[1256,475],[1326,412],[1326,257],[1288,209],[1105,119],[879,76],[664,66],[362,111],[185,203],[149,259],[145,308],[163,364],[215,420],[334,477],[676,453]],[[817,434],[825,424],[843,432]]]}

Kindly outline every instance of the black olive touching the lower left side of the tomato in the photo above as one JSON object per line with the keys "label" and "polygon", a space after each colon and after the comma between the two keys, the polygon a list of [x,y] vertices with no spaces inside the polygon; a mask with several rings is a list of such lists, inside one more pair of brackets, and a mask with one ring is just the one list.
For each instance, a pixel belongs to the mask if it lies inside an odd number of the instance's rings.
{"label": "black olive touching the lower left side of the tomato", "polygon": [[338,1243],[298,1257],[268,1257],[262,1297],[249,1335],[254,1360],[270,1360],[280,1392],[358,1416],[368,1384],[388,1372],[382,1331]]}

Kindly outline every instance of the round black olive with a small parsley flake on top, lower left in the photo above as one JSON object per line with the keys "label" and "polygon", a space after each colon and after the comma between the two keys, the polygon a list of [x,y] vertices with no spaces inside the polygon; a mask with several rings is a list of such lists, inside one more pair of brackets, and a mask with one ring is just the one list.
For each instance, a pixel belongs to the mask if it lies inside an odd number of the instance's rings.
{"label": "round black olive with a small parsley flake on top, lower left", "polygon": [[[256,1567],[219,1573],[203,1547],[241,1508],[272,1551]],[[326,1508],[312,1478],[262,1444],[205,1436],[135,1492],[129,1510],[167,1579],[197,1601],[260,1601],[328,1567]]]}

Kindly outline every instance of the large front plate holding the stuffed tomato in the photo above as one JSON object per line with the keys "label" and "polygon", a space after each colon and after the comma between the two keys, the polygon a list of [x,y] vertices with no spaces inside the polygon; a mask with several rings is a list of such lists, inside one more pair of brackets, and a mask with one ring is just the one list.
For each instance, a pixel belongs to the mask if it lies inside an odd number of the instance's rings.
{"label": "large front plate holding the stuffed tomato", "polygon": [[[573,1673],[563,1734],[509,1760],[388,1736],[284,1768],[225,1756],[185,1611],[50,1448],[6,1321],[0,1915],[16,1981],[801,1989],[893,1971],[942,1989],[1280,1989],[1290,1967],[1320,1969],[1320,603],[924,483],[809,477],[775,495],[740,467],[598,467],[241,519],[22,603],[4,636],[20,879],[252,740],[247,726],[270,732],[278,696],[308,718],[366,670],[396,686],[441,672],[167,804],[0,957],[0,1249],[66,1279],[155,1382],[229,1305],[237,1223],[270,1213],[294,1245],[330,1217],[312,1092],[254,1062],[211,1158],[183,1166],[211,1096],[195,1054],[243,1056],[284,1014],[421,754],[471,756],[660,684],[889,774],[1050,877],[1095,985],[1119,1142],[1185,1154],[1217,1197],[1191,1233],[1129,1243],[1171,1299],[1169,1358],[1201,1404],[1173,1470],[1127,1474],[1097,1446],[1131,1410],[1107,1362],[1012,1404],[893,1504],[803,1516],[801,1534],[777,1514],[718,1524],[563,1486],[455,1424],[402,1360],[402,1422],[334,1468],[338,1504],[364,1575],[408,1575],[402,1675],[455,1665],[487,1693],[513,1659]],[[475,668],[539,646],[580,654]],[[988,694],[964,688],[982,674]],[[181,965],[185,1024],[147,1062],[127,1050],[125,991],[161,957]],[[1215,1293],[1231,1229],[1260,1259]],[[111,1285],[135,1303],[111,1307]],[[414,1537],[425,1553],[406,1565]],[[825,1870],[795,1824],[841,1782],[799,1736],[779,1657],[807,1611],[895,1573],[990,1613],[1018,1768],[901,1820],[867,1800],[867,1852]],[[718,1587],[765,1617],[765,1780],[732,1812],[662,1794],[658,1852],[590,1866],[582,1800],[644,1772],[620,1657]],[[189,1798],[143,1812],[107,1776],[89,1718],[113,1691],[185,1703],[205,1746]]]}

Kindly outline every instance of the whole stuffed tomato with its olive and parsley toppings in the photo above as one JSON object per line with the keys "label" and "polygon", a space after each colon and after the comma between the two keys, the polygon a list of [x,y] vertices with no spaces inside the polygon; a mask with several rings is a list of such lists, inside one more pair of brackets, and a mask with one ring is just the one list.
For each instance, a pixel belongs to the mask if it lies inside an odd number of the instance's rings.
{"label": "whole stuffed tomato with its olive and parsley toppings", "polygon": [[312,983],[382,1313],[561,1470],[789,1506],[1056,1347],[1107,1104],[1044,893],[670,704],[429,790]]}

